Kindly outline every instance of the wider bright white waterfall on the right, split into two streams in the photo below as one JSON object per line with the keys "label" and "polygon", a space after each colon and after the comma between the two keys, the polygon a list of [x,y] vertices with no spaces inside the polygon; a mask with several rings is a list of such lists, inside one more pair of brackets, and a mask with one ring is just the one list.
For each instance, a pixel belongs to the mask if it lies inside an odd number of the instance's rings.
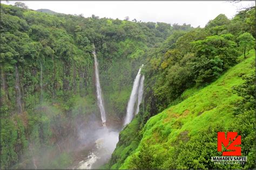
{"label": "wider bright white waterfall on the right, split into two streams", "polygon": [[[143,67],[143,65],[142,65],[142,67]],[[142,67],[139,68],[139,72],[136,75],[135,80],[133,82],[132,93],[131,93],[131,96],[130,96],[130,99],[129,99],[129,102],[128,102],[128,105],[127,105],[127,112],[126,112],[126,117],[125,117],[125,120],[124,120],[124,125],[129,124],[132,121],[132,118],[133,118],[134,107],[135,107],[135,104],[138,100],[139,85],[140,85],[141,81],[142,82],[144,81],[144,76],[143,76],[143,80],[141,80],[142,76],[140,75],[140,70],[142,69]],[[142,87],[141,87],[141,90],[143,91],[142,88],[143,88],[143,84],[142,84]],[[142,94],[140,94],[140,95],[142,95]],[[140,102],[141,102],[141,100],[142,99],[140,99]],[[137,105],[139,105],[139,102],[138,102]],[[137,111],[137,109],[136,109],[136,111]]]}

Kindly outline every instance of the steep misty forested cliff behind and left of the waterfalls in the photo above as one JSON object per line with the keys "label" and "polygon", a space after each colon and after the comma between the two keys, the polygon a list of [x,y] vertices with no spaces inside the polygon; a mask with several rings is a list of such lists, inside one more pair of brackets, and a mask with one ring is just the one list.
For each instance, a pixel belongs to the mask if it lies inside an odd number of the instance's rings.
{"label": "steep misty forested cliff behind and left of the waterfalls", "polygon": [[19,168],[65,168],[74,159],[70,152],[81,145],[79,133],[100,125],[92,44],[106,123],[120,128],[147,48],[175,30],[190,29],[1,4],[2,168],[17,162]]}

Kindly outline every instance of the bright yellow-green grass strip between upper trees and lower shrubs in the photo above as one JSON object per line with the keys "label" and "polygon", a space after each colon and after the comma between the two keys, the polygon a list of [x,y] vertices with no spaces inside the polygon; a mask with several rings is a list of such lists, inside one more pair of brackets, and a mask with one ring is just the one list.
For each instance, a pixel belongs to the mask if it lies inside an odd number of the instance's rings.
{"label": "bright yellow-green grass strip between upper trees and lower shrubs", "polygon": [[[227,70],[225,74],[208,86],[186,90],[182,102],[171,105],[160,114],[153,116],[144,126],[143,138],[137,149],[138,154],[142,143],[147,143],[168,160],[167,152],[174,149],[174,144],[181,134],[188,137],[197,136],[199,130],[210,125],[221,124],[228,128],[233,121],[233,107],[240,99],[232,88],[243,82],[242,75],[254,73],[255,52],[251,51],[247,59]],[[126,158],[120,168],[129,168],[132,154]]]}

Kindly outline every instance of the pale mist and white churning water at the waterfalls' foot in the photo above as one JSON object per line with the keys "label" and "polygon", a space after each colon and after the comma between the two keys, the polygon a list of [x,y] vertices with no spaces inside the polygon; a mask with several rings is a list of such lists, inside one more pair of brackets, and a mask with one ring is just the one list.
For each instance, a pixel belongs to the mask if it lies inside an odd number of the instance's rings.
{"label": "pale mist and white churning water at the waterfalls' foot", "polygon": [[[35,138],[29,139],[28,150],[21,155],[21,162],[14,168],[24,169],[44,169],[44,168],[99,168],[107,163],[118,142],[120,129],[107,129],[102,125],[99,112],[80,115],[68,123],[57,115],[62,115],[62,110],[56,110],[50,104],[43,102],[37,108],[38,114],[52,115],[51,128],[57,134],[52,139],[51,145],[40,145]],[[72,124],[72,125],[71,125]],[[36,131],[36,129],[35,129]],[[94,164],[86,165],[91,153],[95,154],[92,159]],[[80,163],[79,163],[80,162]],[[87,162],[87,163],[85,163]],[[85,163],[85,164],[83,164]]]}

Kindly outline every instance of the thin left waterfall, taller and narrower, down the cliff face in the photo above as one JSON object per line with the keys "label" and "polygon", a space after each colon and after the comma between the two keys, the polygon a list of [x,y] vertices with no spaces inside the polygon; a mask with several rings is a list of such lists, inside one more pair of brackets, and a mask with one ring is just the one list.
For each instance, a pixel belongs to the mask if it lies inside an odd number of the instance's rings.
{"label": "thin left waterfall, taller and narrower, down the cliff face", "polygon": [[96,89],[97,89],[97,100],[98,100],[98,107],[100,110],[100,115],[102,117],[102,124],[103,126],[106,126],[106,116],[105,116],[105,109],[104,109],[104,104],[103,104],[103,98],[102,98],[102,89],[100,88],[100,83],[99,83],[99,70],[98,70],[98,61],[97,61],[97,56],[95,52],[95,46],[93,44],[93,52],[92,52],[95,60],[95,77],[96,77]]}

